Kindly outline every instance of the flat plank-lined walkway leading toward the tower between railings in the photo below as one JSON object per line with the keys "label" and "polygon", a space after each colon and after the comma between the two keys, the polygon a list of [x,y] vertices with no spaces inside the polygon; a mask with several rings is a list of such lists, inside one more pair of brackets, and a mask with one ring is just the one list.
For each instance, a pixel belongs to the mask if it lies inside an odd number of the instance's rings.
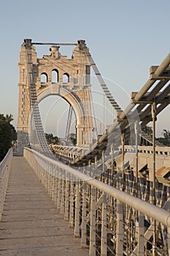
{"label": "flat plank-lined walkway leading toward the tower between railings", "polygon": [[0,255],[88,255],[24,157],[13,157],[0,223]]}

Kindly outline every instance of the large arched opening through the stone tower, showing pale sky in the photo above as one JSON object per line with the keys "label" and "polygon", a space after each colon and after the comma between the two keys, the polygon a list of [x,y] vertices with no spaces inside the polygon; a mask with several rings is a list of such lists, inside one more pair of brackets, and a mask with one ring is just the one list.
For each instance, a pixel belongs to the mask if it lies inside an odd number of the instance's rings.
{"label": "large arched opening through the stone tower, showing pale sky", "polygon": [[76,143],[76,116],[69,102],[51,95],[39,102],[39,111],[45,133],[57,136],[64,146]]}

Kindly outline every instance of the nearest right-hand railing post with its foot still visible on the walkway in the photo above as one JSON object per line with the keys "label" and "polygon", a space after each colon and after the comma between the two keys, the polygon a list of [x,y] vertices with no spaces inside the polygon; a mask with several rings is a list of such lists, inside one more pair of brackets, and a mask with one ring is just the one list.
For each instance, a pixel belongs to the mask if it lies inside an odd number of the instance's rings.
{"label": "nearest right-hand railing post with its foot still visible on the walkway", "polygon": [[86,217],[86,196],[87,196],[87,184],[85,184],[85,181],[83,181],[82,184],[82,236],[81,236],[81,247],[86,248],[87,243],[86,243],[86,233],[87,233],[87,217]]}

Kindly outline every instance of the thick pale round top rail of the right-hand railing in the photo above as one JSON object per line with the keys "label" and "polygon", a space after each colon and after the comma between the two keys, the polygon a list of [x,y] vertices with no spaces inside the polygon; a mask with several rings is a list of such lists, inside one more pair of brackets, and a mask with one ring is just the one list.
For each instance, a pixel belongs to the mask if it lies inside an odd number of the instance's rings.
{"label": "thick pale round top rail of the right-hand railing", "polygon": [[[170,227],[170,213],[169,211],[164,210],[163,208],[159,208],[158,206],[154,206],[150,203],[147,203],[144,200],[141,200],[137,197],[128,195],[127,193],[115,189],[115,187],[111,187],[104,182],[98,181],[95,178],[92,178],[84,173],[80,173],[78,170],[75,170],[68,165],[63,164],[62,162],[55,161],[54,159],[50,159],[49,157],[45,157],[39,152],[31,150],[30,148],[24,148],[24,157],[27,158],[26,151],[29,151],[31,154],[34,154],[35,157],[39,157],[40,159],[44,159],[47,164],[53,164],[62,170],[66,170],[66,172],[72,174],[73,176],[80,178],[82,181],[85,181],[87,184],[90,184],[93,187],[101,189],[102,192],[106,193],[107,195],[111,195],[115,197],[120,202],[131,206],[136,211],[140,211],[142,214],[146,214],[148,217],[151,217],[158,222],[161,222],[163,225]],[[50,165],[46,165],[47,173],[52,173],[50,170]]]}

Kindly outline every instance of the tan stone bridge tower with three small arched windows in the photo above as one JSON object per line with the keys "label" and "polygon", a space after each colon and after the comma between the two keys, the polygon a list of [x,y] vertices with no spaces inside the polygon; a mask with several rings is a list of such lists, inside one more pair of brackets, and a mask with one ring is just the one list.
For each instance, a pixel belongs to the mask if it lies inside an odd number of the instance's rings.
{"label": "tan stone bridge tower with three small arched windows", "polygon": [[[31,46],[33,76],[38,102],[49,95],[66,99],[76,116],[77,146],[92,143],[93,121],[91,113],[90,53],[85,40],[77,41],[72,59],[62,56],[58,45],[50,47],[50,54],[37,58],[34,43]],[[20,49],[19,101],[18,101],[18,147],[28,146],[31,106],[28,91],[26,47]],[[55,81],[52,73],[55,72]],[[45,80],[42,80],[42,75]]]}

